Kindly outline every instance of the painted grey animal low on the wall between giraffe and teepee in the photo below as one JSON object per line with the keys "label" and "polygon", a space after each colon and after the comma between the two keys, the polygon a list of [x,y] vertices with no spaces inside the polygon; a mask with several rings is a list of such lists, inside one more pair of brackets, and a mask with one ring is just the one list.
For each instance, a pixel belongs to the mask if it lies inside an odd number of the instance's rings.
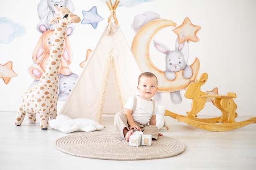
{"label": "painted grey animal low on the wall between giraffe and teepee", "polygon": [[59,87],[58,100],[65,101],[70,94],[78,75],[71,73],[70,75],[59,75]]}

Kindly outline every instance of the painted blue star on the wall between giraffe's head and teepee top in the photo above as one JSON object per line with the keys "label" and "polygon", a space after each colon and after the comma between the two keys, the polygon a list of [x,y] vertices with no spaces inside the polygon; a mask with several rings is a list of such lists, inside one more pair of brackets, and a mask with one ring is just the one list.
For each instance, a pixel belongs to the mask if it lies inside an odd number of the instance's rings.
{"label": "painted blue star on the wall between giraffe's head and teepee top", "polygon": [[81,24],[91,24],[94,29],[97,28],[98,22],[102,21],[103,18],[98,15],[97,7],[92,7],[90,11],[82,11],[83,20]]}

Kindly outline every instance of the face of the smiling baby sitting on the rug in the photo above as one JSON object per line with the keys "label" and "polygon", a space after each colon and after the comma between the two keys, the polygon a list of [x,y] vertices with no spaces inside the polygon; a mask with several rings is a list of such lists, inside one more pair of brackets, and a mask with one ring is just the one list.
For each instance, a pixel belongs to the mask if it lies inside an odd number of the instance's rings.
{"label": "face of the smiling baby sitting on the rug", "polygon": [[141,77],[137,88],[141,98],[151,101],[151,98],[157,93],[157,79],[155,77]]}

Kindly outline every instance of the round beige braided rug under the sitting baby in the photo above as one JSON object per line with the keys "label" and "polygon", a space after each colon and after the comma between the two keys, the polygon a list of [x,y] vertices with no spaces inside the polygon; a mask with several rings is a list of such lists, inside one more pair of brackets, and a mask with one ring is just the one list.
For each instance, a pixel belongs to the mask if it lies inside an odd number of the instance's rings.
{"label": "round beige braided rug under the sitting baby", "polygon": [[83,132],[57,139],[58,150],[85,158],[109,160],[142,160],[173,157],[185,150],[182,142],[161,136],[151,146],[129,146],[117,131]]}

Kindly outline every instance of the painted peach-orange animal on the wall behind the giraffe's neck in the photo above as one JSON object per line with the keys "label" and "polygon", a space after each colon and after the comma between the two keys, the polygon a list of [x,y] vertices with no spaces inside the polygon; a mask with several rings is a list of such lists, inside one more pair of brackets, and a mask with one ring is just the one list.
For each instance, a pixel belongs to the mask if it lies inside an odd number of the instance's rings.
{"label": "painted peach-orange animal on the wall behind the giraffe's neck", "polygon": [[[49,59],[51,47],[52,47],[52,40],[54,30],[47,30],[44,25],[40,26],[40,31],[42,35],[40,36],[36,47],[32,53],[32,60],[33,64],[28,68],[29,74],[32,78],[39,80],[40,77],[45,72],[45,68]],[[71,32],[70,32],[71,31]],[[70,42],[68,36],[72,33],[72,28],[69,28],[68,32],[66,31],[66,38],[65,38],[65,45],[64,51],[61,58],[61,65],[59,68],[59,74],[63,75],[70,75],[71,70],[69,65],[73,60],[73,53],[71,50]]]}

